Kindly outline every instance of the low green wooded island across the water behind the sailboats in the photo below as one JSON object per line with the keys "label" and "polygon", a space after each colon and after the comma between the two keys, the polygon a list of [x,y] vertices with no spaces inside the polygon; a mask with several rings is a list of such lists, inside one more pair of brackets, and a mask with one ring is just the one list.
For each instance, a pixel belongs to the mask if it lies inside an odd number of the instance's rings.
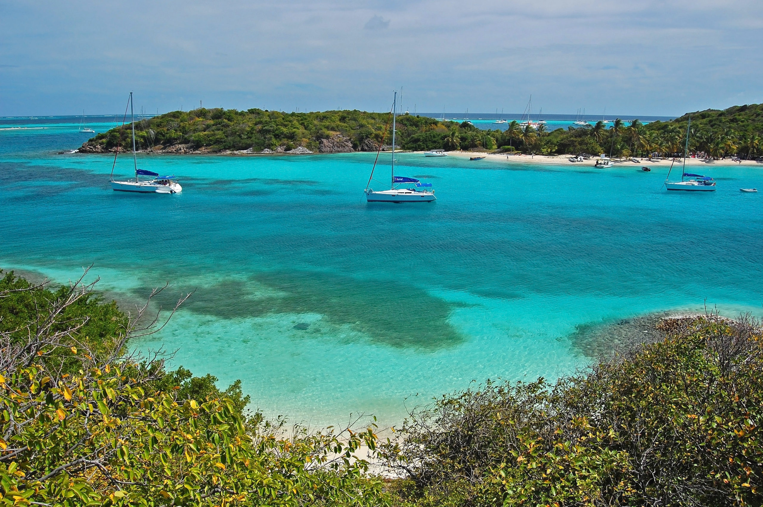
{"label": "low green wooded island across the water behind the sailboats", "polygon": [[[390,149],[390,114],[364,111],[282,113],[250,109],[173,111],[136,122],[137,149],[166,153],[356,152]],[[678,155],[684,151],[691,116],[689,148],[720,159],[754,159],[763,151],[763,104],[697,111],[675,120],[599,121],[588,127],[546,130],[545,125],[482,130],[468,121],[441,121],[403,114],[397,120],[401,149],[487,150],[544,155],[589,153],[611,156]],[[88,140],[79,152],[132,149],[130,125]]]}

